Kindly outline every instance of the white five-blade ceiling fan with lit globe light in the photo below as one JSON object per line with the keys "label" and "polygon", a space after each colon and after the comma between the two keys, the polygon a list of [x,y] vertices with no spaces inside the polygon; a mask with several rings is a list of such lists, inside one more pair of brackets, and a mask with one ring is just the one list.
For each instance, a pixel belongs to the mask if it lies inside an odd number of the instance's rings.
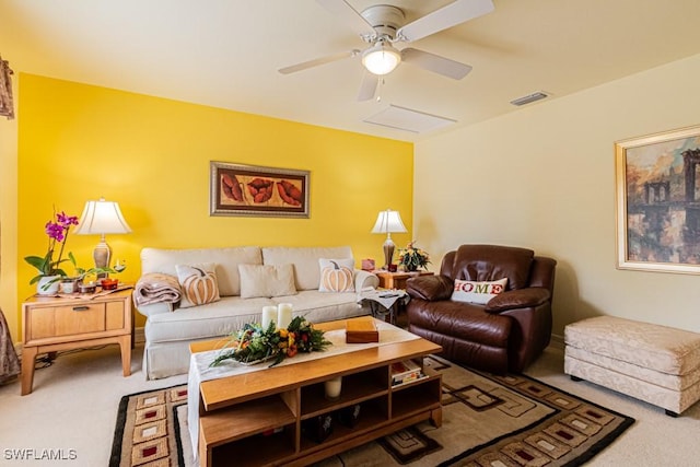
{"label": "white five-blade ceiling fan with lit globe light", "polygon": [[281,68],[279,72],[289,74],[346,58],[361,57],[365,72],[358,101],[371,100],[381,77],[394,71],[401,62],[411,63],[454,80],[463,79],[471,71],[470,66],[411,47],[398,50],[394,44],[422,39],[493,11],[492,0],[456,0],[409,24],[404,24],[406,15],[398,7],[377,4],[358,12],[346,0],[316,1],[346,20],[360,38],[369,44],[369,47],[303,61]]}

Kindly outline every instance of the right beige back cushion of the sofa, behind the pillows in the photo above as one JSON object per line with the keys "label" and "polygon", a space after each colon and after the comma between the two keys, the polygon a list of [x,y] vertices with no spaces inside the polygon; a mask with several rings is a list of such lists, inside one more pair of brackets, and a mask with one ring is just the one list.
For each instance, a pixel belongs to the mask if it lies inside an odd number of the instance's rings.
{"label": "right beige back cushion of the sofa, behind the pillows", "polygon": [[320,283],[320,258],[352,258],[349,246],[337,247],[284,247],[271,246],[262,248],[265,265],[294,266],[296,290],[318,290]]}

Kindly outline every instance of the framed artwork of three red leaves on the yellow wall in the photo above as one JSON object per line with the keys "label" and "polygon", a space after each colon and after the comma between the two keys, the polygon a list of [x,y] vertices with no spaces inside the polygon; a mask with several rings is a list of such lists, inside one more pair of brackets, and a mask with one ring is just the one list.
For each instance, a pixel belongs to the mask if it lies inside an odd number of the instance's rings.
{"label": "framed artwork of three red leaves on the yellow wall", "polygon": [[308,171],[210,163],[211,215],[308,218]]}

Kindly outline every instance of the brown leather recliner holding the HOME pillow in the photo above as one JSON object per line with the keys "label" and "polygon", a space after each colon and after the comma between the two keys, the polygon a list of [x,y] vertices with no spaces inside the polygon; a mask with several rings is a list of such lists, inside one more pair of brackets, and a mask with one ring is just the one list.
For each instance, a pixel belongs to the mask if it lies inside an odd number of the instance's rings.
{"label": "brown leather recliner holding the HOME pillow", "polygon": [[[441,345],[448,360],[522,373],[549,345],[556,265],[526,248],[462,245],[445,255],[439,276],[407,281],[408,329]],[[505,290],[486,305],[451,300],[455,279],[502,278]]]}

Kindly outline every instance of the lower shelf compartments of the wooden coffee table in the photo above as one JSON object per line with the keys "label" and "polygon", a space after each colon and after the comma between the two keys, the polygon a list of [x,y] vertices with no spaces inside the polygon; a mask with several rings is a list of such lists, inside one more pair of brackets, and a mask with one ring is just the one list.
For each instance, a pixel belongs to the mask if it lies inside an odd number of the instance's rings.
{"label": "lower shelf compartments of the wooden coffee table", "polygon": [[[440,375],[434,375],[392,396],[385,392],[368,399],[361,402],[354,427],[334,420],[332,432],[323,442],[312,440],[302,429],[304,420],[293,417],[276,396],[218,410],[200,418],[200,458],[208,466],[305,466],[424,420],[440,427]],[[352,404],[340,400],[324,413]]]}

